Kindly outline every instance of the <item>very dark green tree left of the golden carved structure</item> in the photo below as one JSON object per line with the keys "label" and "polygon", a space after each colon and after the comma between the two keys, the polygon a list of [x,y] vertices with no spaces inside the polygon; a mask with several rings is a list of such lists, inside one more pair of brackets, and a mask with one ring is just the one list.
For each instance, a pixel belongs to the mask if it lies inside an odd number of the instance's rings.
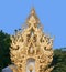
{"label": "very dark green tree left of the golden carved structure", "polygon": [[10,42],[11,42],[10,35],[1,30],[0,31],[0,70],[11,63],[10,54],[9,54]]}

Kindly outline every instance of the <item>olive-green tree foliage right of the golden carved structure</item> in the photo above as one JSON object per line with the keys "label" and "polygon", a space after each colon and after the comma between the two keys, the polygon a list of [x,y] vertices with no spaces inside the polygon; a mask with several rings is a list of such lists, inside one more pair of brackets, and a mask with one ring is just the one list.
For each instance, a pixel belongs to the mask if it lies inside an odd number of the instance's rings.
{"label": "olive-green tree foliage right of the golden carved structure", "polygon": [[66,48],[54,50],[53,72],[66,72]]}

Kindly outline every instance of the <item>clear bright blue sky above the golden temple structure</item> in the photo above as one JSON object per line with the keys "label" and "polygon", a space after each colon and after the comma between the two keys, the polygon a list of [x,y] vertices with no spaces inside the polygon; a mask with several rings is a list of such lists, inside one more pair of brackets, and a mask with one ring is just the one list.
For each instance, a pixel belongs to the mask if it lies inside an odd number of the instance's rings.
{"label": "clear bright blue sky above the golden temple structure", "polygon": [[66,0],[0,0],[0,30],[13,34],[34,7],[43,30],[54,39],[54,48],[66,47]]}

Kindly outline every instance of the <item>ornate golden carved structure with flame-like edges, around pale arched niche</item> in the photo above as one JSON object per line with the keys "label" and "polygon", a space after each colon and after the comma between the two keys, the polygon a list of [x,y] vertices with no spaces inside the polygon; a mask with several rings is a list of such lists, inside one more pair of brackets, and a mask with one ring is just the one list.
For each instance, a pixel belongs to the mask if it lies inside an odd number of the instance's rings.
{"label": "ornate golden carved structure with flame-like edges, around pale arched niche", "polygon": [[18,72],[26,72],[26,60],[34,59],[35,72],[51,72],[53,68],[48,68],[48,65],[53,61],[53,39],[45,35],[41,27],[37,27],[40,20],[34,9],[31,10],[26,24],[26,29],[20,30],[11,37],[12,63],[16,65]]}

